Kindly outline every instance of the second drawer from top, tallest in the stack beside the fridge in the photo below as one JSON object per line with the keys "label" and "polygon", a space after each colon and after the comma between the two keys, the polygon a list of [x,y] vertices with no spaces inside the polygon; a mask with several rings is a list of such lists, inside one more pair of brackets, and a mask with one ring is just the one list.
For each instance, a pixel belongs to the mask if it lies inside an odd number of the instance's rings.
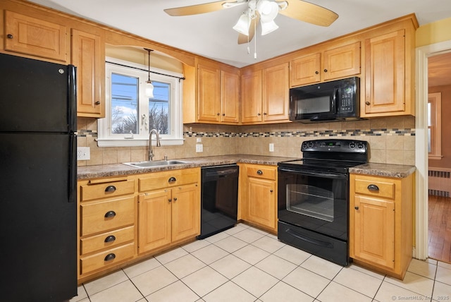
{"label": "second drawer from top, tallest in the stack beside the fridge", "polygon": [[135,198],[105,200],[80,206],[81,236],[117,229],[135,222]]}

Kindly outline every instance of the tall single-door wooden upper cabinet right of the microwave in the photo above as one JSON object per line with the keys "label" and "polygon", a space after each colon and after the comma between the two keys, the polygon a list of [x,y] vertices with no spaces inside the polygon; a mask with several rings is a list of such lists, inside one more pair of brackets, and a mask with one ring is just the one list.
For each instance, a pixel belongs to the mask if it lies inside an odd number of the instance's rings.
{"label": "tall single-door wooden upper cabinet right of the microwave", "polygon": [[362,117],[415,114],[414,47],[417,27],[412,19],[407,19],[367,35],[361,87]]}

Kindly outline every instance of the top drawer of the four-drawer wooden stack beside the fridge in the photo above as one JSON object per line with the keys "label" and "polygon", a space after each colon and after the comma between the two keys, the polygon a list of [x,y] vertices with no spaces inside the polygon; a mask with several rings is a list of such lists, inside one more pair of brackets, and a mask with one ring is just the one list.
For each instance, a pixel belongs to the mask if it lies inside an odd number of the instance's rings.
{"label": "top drawer of the four-drawer wooden stack beside the fridge", "polygon": [[96,183],[81,186],[80,200],[94,200],[98,198],[114,197],[132,194],[135,191],[135,181],[114,181],[110,183]]}

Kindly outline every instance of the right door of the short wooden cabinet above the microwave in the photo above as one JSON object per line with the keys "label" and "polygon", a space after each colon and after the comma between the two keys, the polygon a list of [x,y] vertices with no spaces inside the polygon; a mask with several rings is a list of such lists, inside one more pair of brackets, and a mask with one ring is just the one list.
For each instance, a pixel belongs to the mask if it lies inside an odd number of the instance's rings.
{"label": "right door of the short wooden cabinet above the microwave", "polygon": [[323,80],[345,78],[360,73],[360,42],[326,50],[323,54]]}

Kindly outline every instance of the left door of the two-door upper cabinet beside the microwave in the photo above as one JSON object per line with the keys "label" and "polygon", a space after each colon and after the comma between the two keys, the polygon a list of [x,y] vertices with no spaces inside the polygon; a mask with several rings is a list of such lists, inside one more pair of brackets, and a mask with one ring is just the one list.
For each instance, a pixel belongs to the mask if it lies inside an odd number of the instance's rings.
{"label": "left door of the two-door upper cabinet beside the microwave", "polygon": [[261,71],[253,71],[242,75],[242,122],[255,123],[262,121],[261,116]]}

